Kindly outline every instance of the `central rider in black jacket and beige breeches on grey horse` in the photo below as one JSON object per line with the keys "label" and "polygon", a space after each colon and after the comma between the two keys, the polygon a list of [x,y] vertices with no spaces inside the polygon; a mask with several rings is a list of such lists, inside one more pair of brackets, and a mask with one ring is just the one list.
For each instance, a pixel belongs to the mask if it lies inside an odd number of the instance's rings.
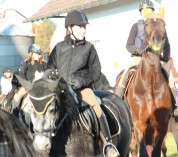
{"label": "central rider in black jacket and beige breeches on grey horse", "polygon": [[101,75],[101,65],[94,45],[85,40],[87,24],[87,16],[82,11],[72,10],[67,14],[65,39],[53,48],[45,75],[57,69],[59,78],[63,77],[80,93],[82,100],[93,107],[107,143],[106,153],[117,154],[117,150],[110,147],[112,140],[107,119],[92,91],[92,83]]}

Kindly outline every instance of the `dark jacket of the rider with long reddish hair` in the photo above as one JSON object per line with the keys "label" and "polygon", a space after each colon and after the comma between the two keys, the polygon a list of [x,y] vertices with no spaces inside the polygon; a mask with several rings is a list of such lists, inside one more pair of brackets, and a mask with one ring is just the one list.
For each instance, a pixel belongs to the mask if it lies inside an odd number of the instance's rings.
{"label": "dark jacket of the rider with long reddish hair", "polygon": [[33,81],[35,78],[35,72],[36,71],[38,71],[39,73],[44,72],[46,67],[47,67],[46,62],[40,63],[38,61],[35,61],[35,64],[32,65],[31,60],[29,60],[27,62],[22,63],[22,65],[19,68],[18,75],[26,80]]}

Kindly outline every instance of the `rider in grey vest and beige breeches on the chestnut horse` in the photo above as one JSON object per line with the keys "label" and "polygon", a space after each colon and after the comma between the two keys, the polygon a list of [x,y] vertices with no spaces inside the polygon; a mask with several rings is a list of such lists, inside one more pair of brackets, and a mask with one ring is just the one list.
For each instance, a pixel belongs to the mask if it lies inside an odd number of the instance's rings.
{"label": "rider in grey vest and beige breeches on the chestnut horse", "polygon": [[[125,87],[127,84],[126,76],[128,75],[128,71],[132,66],[136,66],[139,64],[141,60],[142,53],[145,49],[144,46],[144,14],[143,14],[143,6],[146,4],[146,8],[148,12],[154,12],[155,6],[152,1],[150,0],[142,0],[139,5],[139,12],[141,14],[142,19],[138,20],[136,23],[133,24],[130,34],[127,40],[126,49],[132,55],[132,61],[129,65],[125,68],[119,84],[116,89],[116,94],[120,97],[123,97]],[[163,55],[160,56],[160,60],[167,62],[170,59],[170,45],[169,40],[166,34],[165,37],[165,44],[163,47]]]}

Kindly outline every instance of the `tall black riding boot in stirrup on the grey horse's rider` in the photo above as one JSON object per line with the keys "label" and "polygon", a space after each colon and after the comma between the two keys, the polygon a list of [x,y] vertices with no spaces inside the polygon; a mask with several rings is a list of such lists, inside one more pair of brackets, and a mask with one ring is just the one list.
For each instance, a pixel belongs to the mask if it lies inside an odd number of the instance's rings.
{"label": "tall black riding boot in stirrup on the grey horse's rider", "polygon": [[[117,148],[112,144],[111,134],[109,130],[109,125],[104,113],[102,113],[101,117],[98,118],[100,123],[101,134],[104,136],[104,147],[103,154],[106,157],[117,157],[119,156],[119,152]],[[106,141],[106,142],[105,142]]]}

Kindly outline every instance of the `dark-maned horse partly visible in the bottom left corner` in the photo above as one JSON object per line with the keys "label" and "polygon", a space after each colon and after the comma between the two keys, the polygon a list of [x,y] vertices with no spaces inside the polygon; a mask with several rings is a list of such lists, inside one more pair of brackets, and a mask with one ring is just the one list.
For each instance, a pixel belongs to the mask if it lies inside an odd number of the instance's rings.
{"label": "dark-maned horse partly visible in the bottom left corner", "polygon": [[42,157],[32,145],[33,140],[18,119],[0,109],[0,156]]}

